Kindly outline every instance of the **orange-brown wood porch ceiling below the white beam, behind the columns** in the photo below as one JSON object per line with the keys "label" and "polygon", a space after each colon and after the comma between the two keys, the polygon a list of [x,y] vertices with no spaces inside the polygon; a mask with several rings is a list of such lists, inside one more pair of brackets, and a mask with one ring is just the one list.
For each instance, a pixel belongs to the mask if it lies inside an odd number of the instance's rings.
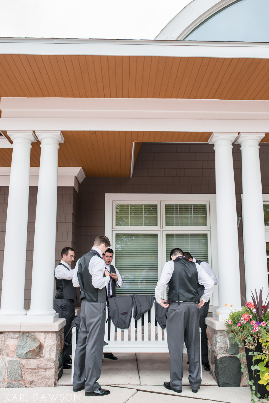
{"label": "orange-brown wood porch ceiling below the white beam, behind the columns", "polygon": [[[3,132],[6,135],[6,132]],[[129,177],[133,141],[138,142],[135,161],[143,142],[206,142],[211,133],[63,131],[58,166],[81,166],[89,177]],[[9,139],[9,137],[6,135]],[[10,140],[10,142],[12,142]],[[0,166],[11,166],[12,149],[2,148]],[[39,166],[40,142],[32,143],[31,166]]]}

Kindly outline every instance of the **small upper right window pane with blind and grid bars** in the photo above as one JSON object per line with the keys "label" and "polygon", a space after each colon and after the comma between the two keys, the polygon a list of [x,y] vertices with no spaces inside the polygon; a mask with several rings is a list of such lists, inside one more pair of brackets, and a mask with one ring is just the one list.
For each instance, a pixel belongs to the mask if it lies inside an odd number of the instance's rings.
{"label": "small upper right window pane with blind and grid bars", "polygon": [[206,204],[165,204],[166,226],[206,226]]}

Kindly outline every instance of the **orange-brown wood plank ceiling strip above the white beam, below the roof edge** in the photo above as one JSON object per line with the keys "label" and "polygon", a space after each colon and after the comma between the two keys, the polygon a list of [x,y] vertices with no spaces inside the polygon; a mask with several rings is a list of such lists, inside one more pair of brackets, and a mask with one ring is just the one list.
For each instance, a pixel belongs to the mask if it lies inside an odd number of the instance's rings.
{"label": "orange-brown wood plank ceiling strip above the white beam, below the roof edge", "polygon": [[0,55],[0,97],[269,99],[269,60]]}

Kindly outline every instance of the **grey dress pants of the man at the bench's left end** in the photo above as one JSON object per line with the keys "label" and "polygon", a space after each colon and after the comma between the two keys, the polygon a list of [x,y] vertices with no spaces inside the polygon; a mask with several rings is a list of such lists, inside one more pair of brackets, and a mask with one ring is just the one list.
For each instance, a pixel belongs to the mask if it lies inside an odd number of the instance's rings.
{"label": "grey dress pants of the man at the bench's left end", "polygon": [[85,392],[93,392],[100,388],[97,381],[100,378],[102,368],[106,304],[89,302],[83,298],[80,316],[81,324],[75,351],[73,388],[84,386]]}

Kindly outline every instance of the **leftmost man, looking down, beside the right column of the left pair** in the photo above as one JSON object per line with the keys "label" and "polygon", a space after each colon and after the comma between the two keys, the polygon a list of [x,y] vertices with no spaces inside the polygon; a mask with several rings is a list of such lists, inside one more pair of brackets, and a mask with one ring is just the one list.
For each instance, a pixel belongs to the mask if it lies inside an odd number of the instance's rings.
{"label": "leftmost man, looking down, beside the right column of the left pair", "polygon": [[[70,329],[71,322],[75,318],[75,302],[77,293],[73,287],[72,279],[74,270],[71,269],[71,263],[74,261],[75,251],[71,247],[63,248],[61,252],[62,260],[55,268],[56,295],[54,299],[54,309],[59,315],[59,319],[64,318],[66,324],[64,327],[64,337]],[[63,368],[71,369],[72,346],[63,347]]]}

